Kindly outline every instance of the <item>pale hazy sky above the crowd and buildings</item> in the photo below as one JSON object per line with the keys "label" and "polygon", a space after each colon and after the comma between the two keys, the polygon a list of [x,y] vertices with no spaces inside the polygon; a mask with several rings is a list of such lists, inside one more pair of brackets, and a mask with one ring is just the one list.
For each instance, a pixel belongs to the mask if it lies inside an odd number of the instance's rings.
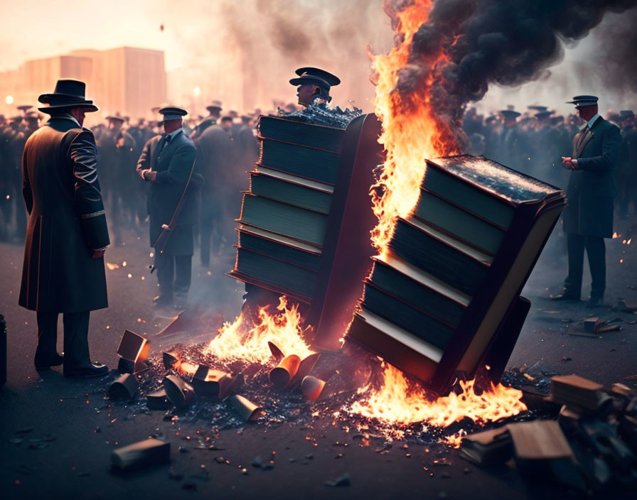
{"label": "pale hazy sky above the crowd and buildings", "polygon": [[[356,9],[360,9],[360,16],[356,15]],[[238,39],[254,45],[261,37],[264,38],[262,51],[274,52],[269,54],[269,60],[280,60],[282,66],[276,68],[277,71],[273,68],[272,74],[259,67],[260,73],[266,73],[263,78],[274,79],[276,74],[279,82],[282,78],[279,70],[287,75],[289,67],[307,64],[313,56],[319,62],[330,57],[331,67],[341,71],[341,75],[346,73],[361,80],[360,87],[368,102],[373,97],[373,87],[363,76],[368,67],[365,45],[369,43],[380,51],[387,50],[392,42],[382,0],[66,0],[63,3],[1,0],[0,18],[4,21],[0,30],[3,48],[0,70],[17,67],[23,60],[78,48],[132,45],[164,50],[166,70],[170,71],[205,66],[207,58],[212,61],[215,54],[227,49],[226,44],[235,43],[228,40]],[[612,22],[612,17],[605,21],[606,24]],[[164,31],[160,29],[162,24]],[[350,30],[355,36],[348,38],[348,42],[339,41],[329,46],[326,48],[329,54],[321,51],[325,40],[331,41],[334,33]],[[598,30],[577,47],[566,49],[564,61],[552,67],[544,80],[514,89],[492,87],[478,107],[497,109],[515,104],[520,109],[527,104],[547,104],[559,112],[567,112],[571,108],[564,101],[573,94],[587,92],[604,97],[603,109],[637,107],[635,94],[604,93],[594,60],[596,50],[599,51],[595,38]],[[308,34],[310,41],[306,39]],[[319,40],[318,47],[316,40]],[[258,48],[251,50],[253,57],[254,53],[259,54]],[[268,64],[269,67],[276,65]],[[350,66],[357,67],[357,72],[350,73]],[[232,77],[216,75],[224,76]],[[339,89],[344,91],[342,87]],[[280,92],[289,92],[289,89],[273,84],[273,93]],[[370,111],[370,104],[365,110]]]}

